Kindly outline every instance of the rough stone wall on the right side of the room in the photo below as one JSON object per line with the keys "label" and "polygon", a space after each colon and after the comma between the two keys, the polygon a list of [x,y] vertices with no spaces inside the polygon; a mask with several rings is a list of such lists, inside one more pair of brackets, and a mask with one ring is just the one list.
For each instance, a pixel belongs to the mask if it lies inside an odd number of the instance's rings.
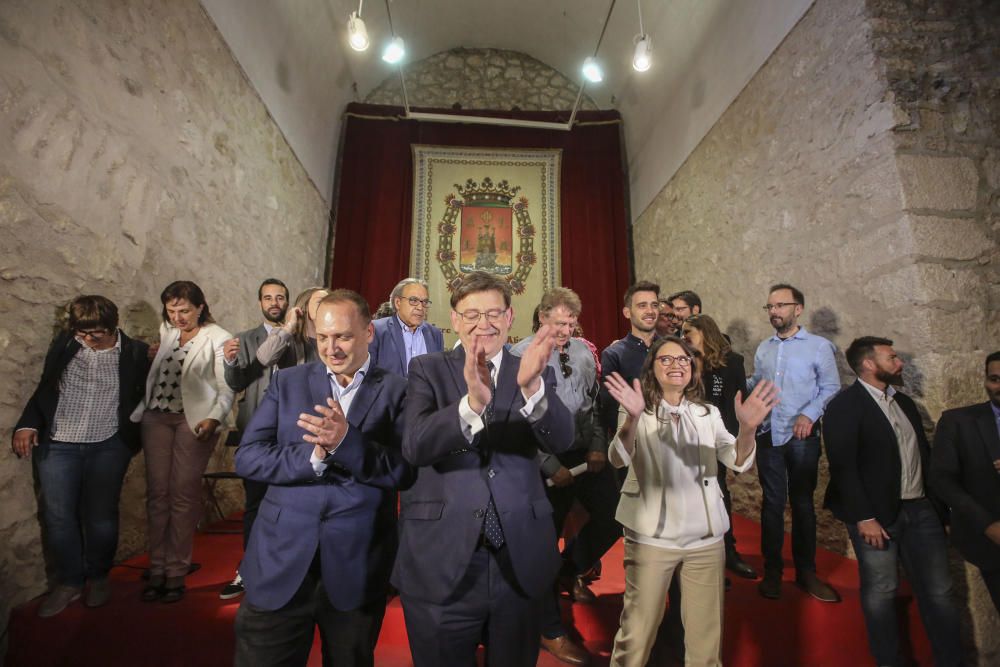
{"label": "rough stone wall on the right side of the room", "polygon": [[[971,0],[817,0],[635,222],[637,275],[695,289],[748,369],[772,333],[767,288],[791,282],[803,323],[840,350],[896,341],[928,427],[983,400],[1000,330],[998,25]],[[827,480],[824,457],[817,507]],[[756,475],[734,487],[759,518]],[[819,524],[821,546],[851,553],[829,512]],[[996,614],[968,582],[968,639],[989,664]]]}

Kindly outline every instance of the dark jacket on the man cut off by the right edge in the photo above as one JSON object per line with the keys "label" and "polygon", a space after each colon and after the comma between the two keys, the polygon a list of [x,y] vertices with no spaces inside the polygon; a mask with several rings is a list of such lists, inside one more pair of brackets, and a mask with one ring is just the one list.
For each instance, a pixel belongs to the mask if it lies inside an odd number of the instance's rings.
{"label": "dark jacket on the man cut off by the right edge", "polygon": [[1000,436],[990,404],[980,403],[941,415],[934,435],[931,479],[951,507],[951,539],[973,565],[1000,570],[1000,546],[984,534],[1000,521]]}

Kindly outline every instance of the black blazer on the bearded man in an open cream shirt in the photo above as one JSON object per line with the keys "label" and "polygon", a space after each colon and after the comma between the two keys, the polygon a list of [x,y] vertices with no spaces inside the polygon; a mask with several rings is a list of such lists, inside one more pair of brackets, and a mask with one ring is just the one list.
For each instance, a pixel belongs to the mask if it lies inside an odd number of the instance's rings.
{"label": "black blazer on the bearded man in an open cream shirt", "polygon": [[[902,408],[917,434],[924,494],[942,517],[929,481],[930,445],[913,400],[897,392]],[[823,415],[823,442],[830,460],[830,485],[825,506],[844,523],[878,519],[883,527],[899,514],[903,464],[896,432],[889,419],[860,382],[833,397]]]}

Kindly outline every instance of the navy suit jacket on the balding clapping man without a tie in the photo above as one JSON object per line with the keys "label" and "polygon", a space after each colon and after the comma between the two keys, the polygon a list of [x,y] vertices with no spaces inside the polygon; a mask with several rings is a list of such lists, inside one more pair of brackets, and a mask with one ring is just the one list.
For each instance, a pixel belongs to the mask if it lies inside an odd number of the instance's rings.
{"label": "navy suit jacket on the balding clapping man without a tie", "polygon": [[254,606],[284,606],[318,550],[336,609],[385,595],[396,545],[394,489],[412,474],[400,451],[406,380],[370,368],[357,391],[347,436],[321,477],[309,462],[308,433],[296,422],[332,395],[322,362],[275,375],[250,418],[236,450],[236,473],[270,485],[240,565]]}

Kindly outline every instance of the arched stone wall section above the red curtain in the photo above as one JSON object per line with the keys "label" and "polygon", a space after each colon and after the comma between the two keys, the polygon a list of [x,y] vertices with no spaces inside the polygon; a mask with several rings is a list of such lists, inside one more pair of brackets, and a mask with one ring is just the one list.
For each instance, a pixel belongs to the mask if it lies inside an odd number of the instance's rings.
{"label": "arched stone wall section above the red curtain", "polygon": [[[503,49],[442,51],[404,69],[410,106],[522,111],[569,110],[580,85],[529,55]],[[399,75],[390,74],[365,102],[403,105]],[[581,109],[596,109],[584,95]]]}

